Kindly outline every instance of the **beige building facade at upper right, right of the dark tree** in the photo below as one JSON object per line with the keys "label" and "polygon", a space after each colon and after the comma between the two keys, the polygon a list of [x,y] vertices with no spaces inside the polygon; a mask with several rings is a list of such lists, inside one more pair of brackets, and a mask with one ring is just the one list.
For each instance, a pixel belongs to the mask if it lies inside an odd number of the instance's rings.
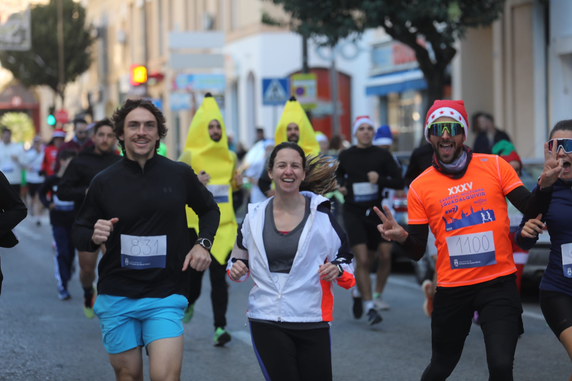
{"label": "beige building facade at upper right, right of the dark tree", "polygon": [[507,0],[498,21],[458,44],[452,97],[469,115],[492,114],[522,157],[542,158],[554,124],[572,118],[570,18],[569,0]]}

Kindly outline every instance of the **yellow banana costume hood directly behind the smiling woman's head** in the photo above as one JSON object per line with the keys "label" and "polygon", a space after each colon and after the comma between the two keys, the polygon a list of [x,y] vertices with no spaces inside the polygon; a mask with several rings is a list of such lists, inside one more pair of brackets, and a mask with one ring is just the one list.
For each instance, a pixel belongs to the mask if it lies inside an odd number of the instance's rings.
{"label": "yellow banana costume hood directly behind the smiling woman's head", "polygon": [[300,130],[298,145],[304,150],[304,153],[306,155],[319,154],[320,145],[316,140],[316,133],[310,124],[306,112],[300,103],[296,101],[295,97],[290,98],[284,105],[284,111],[280,117],[280,121],[278,121],[274,135],[276,145],[288,141],[286,127],[288,127],[290,123],[296,123],[296,125],[298,125],[298,129]]}

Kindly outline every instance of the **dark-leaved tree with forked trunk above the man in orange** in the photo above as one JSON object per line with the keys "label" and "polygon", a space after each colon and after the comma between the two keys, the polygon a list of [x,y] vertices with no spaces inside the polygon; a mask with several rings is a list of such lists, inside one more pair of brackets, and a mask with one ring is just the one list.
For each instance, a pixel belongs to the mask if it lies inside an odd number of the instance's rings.
{"label": "dark-leaved tree with forked trunk above the man in orange", "polygon": [[395,41],[415,51],[427,82],[428,105],[443,98],[446,69],[456,38],[468,28],[488,26],[502,13],[505,0],[266,0],[280,5],[288,21],[263,15],[269,25],[289,25],[322,45],[383,27]]}

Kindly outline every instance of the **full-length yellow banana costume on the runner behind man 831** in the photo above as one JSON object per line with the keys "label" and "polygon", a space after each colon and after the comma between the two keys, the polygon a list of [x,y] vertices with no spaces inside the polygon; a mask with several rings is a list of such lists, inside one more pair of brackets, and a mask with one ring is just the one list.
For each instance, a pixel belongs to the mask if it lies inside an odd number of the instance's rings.
{"label": "full-length yellow banana costume on the runner behind man 831", "polygon": [[[210,138],[208,125],[216,119],[220,122],[221,138],[215,142]],[[235,244],[237,223],[232,207],[232,182],[235,175],[236,159],[228,149],[227,132],[223,115],[215,98],[205,95],[201,107],[194,114],[186,137],[185,150],[178,159],[191,167],[195,173],[205,171],[210,175],[206,188],[219,204],[220,224],[210,253],[220,264],[227,263],[228,253]],[[186,207],[186,222],[189,228],[198,233],[198,216]]]}

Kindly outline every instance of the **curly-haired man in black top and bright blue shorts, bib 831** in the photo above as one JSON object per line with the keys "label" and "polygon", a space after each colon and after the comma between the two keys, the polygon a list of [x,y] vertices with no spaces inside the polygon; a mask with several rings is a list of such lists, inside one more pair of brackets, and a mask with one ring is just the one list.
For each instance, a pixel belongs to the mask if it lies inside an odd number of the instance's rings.
{"label": "curly-haired man in black top and bright blue shorts, bib 831", "polygon": [[[166,135],[156,106],[125,101],[113,123],[125,157],[93,179],[72,237],[78,250],[107,247],[94,312],[117,379],[142,379],[142,346],[152,379],[179,379],[186,270],[208,268],[220,211],[191,167],[156,154]],[[198,215],[192,248],[185,205]]]}

